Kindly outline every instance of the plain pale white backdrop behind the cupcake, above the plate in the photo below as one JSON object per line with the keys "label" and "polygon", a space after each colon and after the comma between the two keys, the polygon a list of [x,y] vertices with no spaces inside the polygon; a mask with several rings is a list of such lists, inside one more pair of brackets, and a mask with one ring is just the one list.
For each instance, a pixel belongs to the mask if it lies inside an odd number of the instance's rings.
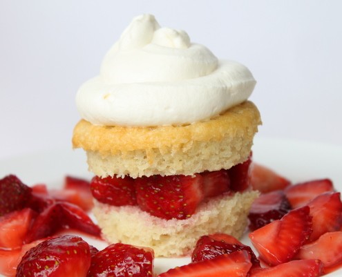
{"label": "plain pale white backdrop behind the cupcake, above the plate", "polygon": [[152,13],[245,64],[259,137],[342,145],[342,1],[0,0],[0,159],[70,147],[77,88]]}

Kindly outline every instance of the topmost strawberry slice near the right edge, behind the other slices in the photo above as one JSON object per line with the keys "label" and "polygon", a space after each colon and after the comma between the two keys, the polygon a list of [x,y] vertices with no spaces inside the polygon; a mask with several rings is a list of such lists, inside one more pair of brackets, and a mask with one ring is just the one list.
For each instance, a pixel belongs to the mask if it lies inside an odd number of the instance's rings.
{"label": "topmost strawberry slice near the right edge, behind the other slices", "polygon": [[321,193],[334,191],[332,181],[329,179],[313,180],[294,184],[285,189],[285,194],[292,209],[305,206],[310,200]]}

